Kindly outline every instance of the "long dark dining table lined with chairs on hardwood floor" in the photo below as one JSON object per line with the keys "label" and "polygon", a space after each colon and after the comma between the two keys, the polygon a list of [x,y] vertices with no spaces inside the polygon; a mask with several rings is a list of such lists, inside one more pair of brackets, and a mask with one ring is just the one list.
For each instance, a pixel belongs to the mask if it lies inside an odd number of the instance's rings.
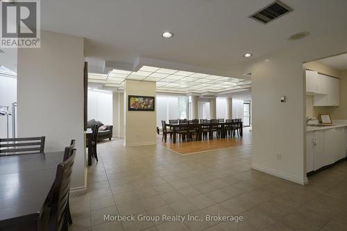
{"label": "long dark dining table lined with chairs on hardwood floor", "polygon": [[[217,123],[185,123],[184,125],[187,126],[196,126],[198,128],[198,140],[202,139],[202,132],[201,128],[202,126],[219,126],[221,128],[221,138],[226,137],[226,130],[224,129],[226,125],[232,125],[235,124],[236,122],[217,122]],[[243,123],[242,121],[237,122],[239,125],[239,135],[243,136],[244,135],[244,129],[243,129]],[[173,139],[172,142],[176,144],[176,133],[177,129],[180,127],[180,124],[178,123],[167,123],[167,126],[170,127],[171,130],[173,130]]]}

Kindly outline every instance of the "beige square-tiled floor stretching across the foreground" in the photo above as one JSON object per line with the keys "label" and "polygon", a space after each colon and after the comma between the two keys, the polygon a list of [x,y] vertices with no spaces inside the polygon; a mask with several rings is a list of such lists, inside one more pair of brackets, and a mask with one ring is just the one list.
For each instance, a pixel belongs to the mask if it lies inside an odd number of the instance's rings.
{"label": "beige square-tiled floor stretching across the foreground", "polygon": [[[251,170],[251,145],[193,155],[98,145],[70,230],[347,230],[347,162],[305,187]],[[103,221],[103,215],[239,215],[244,221]]]}

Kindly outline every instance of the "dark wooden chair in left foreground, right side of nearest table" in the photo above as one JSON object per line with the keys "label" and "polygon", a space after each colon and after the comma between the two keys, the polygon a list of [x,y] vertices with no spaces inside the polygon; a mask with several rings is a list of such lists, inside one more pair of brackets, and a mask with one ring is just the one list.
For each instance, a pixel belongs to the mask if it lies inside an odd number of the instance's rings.
{"label": "dark wooden chair in left foreground, right side of nearest table", "polygon": [[65,162],[58,164],[56,179],[44,202],[43,212],[40,216],[42,230],[67,230],[66,208],[69,202],[71,173],[75,156],[76,149],[73,149],[71,156]]}

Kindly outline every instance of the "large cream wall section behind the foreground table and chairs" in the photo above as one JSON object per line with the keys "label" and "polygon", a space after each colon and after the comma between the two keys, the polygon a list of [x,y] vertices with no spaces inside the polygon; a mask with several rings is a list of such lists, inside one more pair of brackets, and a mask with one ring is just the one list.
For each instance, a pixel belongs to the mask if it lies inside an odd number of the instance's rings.
{"label": "large cream wall section behind the foreground table and chairs", "polygon": [[83,38],[42,31],[40,49],[18,51],[19,137],[46,137],[46,152],[76,139],[71,188],[85,187]]}

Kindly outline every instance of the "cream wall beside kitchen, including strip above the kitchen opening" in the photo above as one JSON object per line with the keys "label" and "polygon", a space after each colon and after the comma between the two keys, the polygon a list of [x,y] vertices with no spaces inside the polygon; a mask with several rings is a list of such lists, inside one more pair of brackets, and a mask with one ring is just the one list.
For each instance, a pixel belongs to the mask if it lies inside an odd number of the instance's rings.
{"label": "cream wall beside kitchen, including strip above the kitchen opening", "polygon": [[[251,61],[252,167],[300,184],[305,176],[305,78],[303,62],[347,51],[347,31],[291,43]],[[287,96],[280,103],[280,96]],[[280,155],[280,160],[278,160]]]}

